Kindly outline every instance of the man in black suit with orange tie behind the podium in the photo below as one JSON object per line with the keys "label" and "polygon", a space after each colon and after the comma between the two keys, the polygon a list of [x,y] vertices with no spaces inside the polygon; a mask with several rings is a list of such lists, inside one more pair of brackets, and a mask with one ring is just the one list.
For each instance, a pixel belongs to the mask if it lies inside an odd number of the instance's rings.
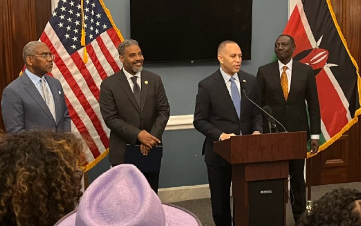
{"label": "man in black suit with orange tie behind the podium", "polygon": [[[260,86],[262,105],[268,105],[272,109],[273,116],[288,131],[307,131],[308,138],[311,137],[311,151],[314,153],[318,150],[321,133],[316,78],[310,66],[292,59],[295,48],[292,36],[278,36],[275,43],[278,60],[260,67],[257,81]],[[310,115],[311,130],[308,125],[305,101],[307,101]],[[277,127],[278,131],[284,131],[281,126],[277,125]],[[291,204],[295,221],[306,210],[304,165],[304,159],[289,162],[290,185],[293,193]]]}

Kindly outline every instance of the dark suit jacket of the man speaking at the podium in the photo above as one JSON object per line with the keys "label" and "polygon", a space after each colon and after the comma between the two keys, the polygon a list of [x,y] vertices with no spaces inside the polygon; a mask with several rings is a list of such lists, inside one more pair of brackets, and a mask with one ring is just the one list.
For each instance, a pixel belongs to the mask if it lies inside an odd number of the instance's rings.
{"label": "dark suit jacket of the man speaking at the podium", "polygon": [[[239,71],[240,81],[246,80],[245,92],[257,104],[261,104],[256,78],[244,71]],[[242,94],[242,93],[241,93]],[[241,96],[241,118],[238,118],[232,98],[226,84],[217,70],[198,84],[198,94],[195,101],[194,127],[205,135],[202,154],[209,165],[229,166],[230,164],[213,151],[213,142],[218,141],[224,133],[239,135],[262,132],[262,115],[244,95]]]}

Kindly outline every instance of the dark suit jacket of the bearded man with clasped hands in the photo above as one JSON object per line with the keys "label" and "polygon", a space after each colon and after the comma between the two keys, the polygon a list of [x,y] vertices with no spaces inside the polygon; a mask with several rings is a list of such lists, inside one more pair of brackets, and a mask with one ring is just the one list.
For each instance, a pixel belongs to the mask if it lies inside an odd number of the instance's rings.
{"label": "dark suit jacket of the bearded man with clasped hands", "polygon": [[111,164],[125,162],[127,143],[139,143],[138,134],[143,129],[162,139],[170,107],[161,77],[143,70],[141,83],[141,108],[123,70],[106,78],[100,86],[100,111],[105,124],[110,128]]}

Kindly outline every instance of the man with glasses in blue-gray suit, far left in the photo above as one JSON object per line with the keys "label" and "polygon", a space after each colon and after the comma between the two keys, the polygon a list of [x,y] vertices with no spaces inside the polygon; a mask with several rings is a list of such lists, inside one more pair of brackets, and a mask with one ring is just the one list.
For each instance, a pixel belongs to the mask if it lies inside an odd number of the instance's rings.
{"label": "man with glasses in blue-gray suit, far left", "polygon": [[24,46],[26,69],[2,92],[2,119],[9,133],[31,129],[71,131],[68,108],[59,80],[51,72],[54,55],[40,41]]}

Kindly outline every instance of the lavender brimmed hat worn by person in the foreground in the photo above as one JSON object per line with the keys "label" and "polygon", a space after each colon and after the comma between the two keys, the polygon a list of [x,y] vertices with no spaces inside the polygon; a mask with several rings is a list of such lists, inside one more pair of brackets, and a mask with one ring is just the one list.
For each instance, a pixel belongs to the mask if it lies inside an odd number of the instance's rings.
{"label": "lavender brimmed hat worn by person in the foreground", "polygon": [[85,190],[76,211],[56,226],[199,226],[191,213],[164,205],[137,167],[115,166]]}

